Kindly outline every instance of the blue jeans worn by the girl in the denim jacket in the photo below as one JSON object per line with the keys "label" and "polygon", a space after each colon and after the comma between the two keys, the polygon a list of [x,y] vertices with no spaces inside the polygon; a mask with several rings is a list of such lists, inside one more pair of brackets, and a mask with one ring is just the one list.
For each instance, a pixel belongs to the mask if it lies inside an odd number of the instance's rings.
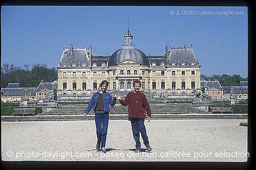
{"label": "blue jeans worn by the girl in the denim jacket", "polygon": [[107,131],[108,131],[108,112],[95,113],[95,124],[97,133],[97,144],[101,144],[101,148],[105,147]]}

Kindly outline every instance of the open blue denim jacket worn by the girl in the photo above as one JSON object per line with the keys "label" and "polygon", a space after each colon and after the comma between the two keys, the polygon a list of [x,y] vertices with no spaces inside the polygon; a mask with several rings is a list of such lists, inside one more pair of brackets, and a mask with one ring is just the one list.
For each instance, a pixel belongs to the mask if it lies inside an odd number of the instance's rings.
{"label": "open blue denim jacket worn by the girl", "polygon": [[[90,99],[89,105],[84,110],[84,113],[88,114],[92,108],[93,108],[93,111],[95,111],[98,98],[99,98],[99,91],[93,94],[92,98]],[[116,104],[116,98],[113,98],[111,94],[105,92],[103,94],[103,102],[104,102],[104,111],[110,112],[109,105],[113,107]]]}

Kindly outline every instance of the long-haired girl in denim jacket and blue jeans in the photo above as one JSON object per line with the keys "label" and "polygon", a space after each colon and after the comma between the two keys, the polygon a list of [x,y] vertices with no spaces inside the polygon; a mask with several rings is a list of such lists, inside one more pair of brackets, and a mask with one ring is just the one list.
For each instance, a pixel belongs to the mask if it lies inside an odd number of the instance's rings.
{"label": "long-haired girl in denim jacket and blue jeans", "polygon": [[107,93],[108,81],[104,80],[99,85],[99,89],[93,94],[90,99],[90,103],[84,110],[84,118],[93,108],[95,112],[95,123],[97,133],[97,144],[96,149],[102,148],[102,152],[106,153],[105,144],[108,131],[108,113],[110,112],[109,105],[112,107],[116,104],[116,96],[112,97],[111,94]]}

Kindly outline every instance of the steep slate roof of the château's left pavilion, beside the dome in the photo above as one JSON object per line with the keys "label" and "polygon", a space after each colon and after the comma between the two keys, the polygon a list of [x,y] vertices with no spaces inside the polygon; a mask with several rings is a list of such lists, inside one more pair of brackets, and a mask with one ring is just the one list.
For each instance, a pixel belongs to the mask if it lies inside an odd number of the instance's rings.
{"label": "steep slate roof of the ch\u00e2teau's left pavilion, beside the dome", "polygon": [[64,49],[58,67],[88,66],[89,57],[85,48]]}

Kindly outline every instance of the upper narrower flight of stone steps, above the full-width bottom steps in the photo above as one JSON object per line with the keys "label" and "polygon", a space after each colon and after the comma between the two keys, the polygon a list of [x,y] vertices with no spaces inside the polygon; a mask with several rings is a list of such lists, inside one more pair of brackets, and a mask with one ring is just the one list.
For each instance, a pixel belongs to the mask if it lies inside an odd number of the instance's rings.
{"label": "upper narrower flight of stone steps, above the full-width bottom steps", "polygon": [[[82,115],[84,110],[87,108],[87,105],[59,105],[58,108],[52,108],[52,110],[44,109],[43,113],[39,113],[38,116],[47,116],[47,115]],[[206,111],[202,111],[193,105],[156,105],[151,104],[151,114],[184,114],[184,113],[209,113]],[[110,107],[110,114],[119,114],[125,116],[128,115],[128,106],[122,106],[120,104],[116,104],[114,107]],[[89,115],[94,115],[93,110],[89,112]]]}

